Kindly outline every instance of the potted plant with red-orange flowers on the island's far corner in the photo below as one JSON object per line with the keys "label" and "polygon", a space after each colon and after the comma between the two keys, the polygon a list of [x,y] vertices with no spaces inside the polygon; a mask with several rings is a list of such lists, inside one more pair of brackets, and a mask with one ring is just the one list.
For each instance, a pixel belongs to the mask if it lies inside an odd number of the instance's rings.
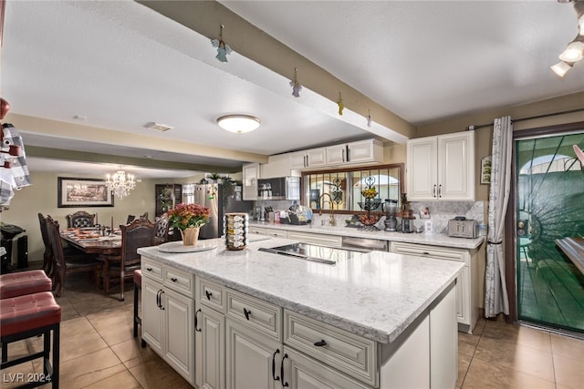
{"label": "potted plant with red-orange flowers on the island's far corner", "polygon": [[181,203],[168,211],[173,228],[181,230],[183,244],[193,246],[199,239],[199,231],[209,221],[211,210],[201,204]]}

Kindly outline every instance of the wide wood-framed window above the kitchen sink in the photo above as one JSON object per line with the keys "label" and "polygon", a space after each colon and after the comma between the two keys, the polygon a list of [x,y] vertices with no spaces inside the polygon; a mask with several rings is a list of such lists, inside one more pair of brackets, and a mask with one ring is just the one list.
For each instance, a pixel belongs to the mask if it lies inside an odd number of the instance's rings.
{"label": "wide wood-framed window above the kitchen sink", "polygon": [[363,210],[366,192],[375,210],[382,211],[386,199],[400,202],[403,193],[404,165],[375,165],[350,169],[327,169],[302,173],[302,203],[313,211],[330,210],[336,213],[353,213]]}

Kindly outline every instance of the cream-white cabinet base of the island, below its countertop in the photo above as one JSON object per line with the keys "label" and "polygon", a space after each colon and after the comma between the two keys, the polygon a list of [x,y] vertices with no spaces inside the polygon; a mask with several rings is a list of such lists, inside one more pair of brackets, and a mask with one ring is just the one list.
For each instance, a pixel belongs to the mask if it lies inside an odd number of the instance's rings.
{"label": "cream-white cabinet base of the island, below its countertop", "polygon": [[142,279],[142,338],[199,389],[454,387],[454,285],[385,344],[160,266]]}

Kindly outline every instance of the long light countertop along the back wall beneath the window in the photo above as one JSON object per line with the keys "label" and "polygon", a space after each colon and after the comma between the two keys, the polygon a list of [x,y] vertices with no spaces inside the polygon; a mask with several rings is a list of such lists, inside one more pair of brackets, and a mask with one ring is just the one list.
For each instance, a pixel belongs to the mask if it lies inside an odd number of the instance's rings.
{"label": "long light countertop along the back wall beneath the window", "polygon": [[474,239],[454,238],[443,233],[401,233],[386,231],[366,231],[344,226],[320,226],[318,224],[307,224],[297,226],[293,224],[275,224],[265,221],[250,221],[249,226],[266,227],[277,230],[295,230],[304,232],[315,232],[328,235],[350,236],[356,238],[379,239],[382,241],[403,241],[408,243],[429,244],[432,246],[454,247],[457,249],[476,249],[485,237]]}

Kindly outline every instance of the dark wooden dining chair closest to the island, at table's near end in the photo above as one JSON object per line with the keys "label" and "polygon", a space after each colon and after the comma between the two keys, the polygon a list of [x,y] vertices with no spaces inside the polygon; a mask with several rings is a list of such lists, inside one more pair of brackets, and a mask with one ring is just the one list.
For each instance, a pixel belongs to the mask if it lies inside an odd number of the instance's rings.
{"label": "dark wooden dining chair closest to the island, at table's near end", "polygon": [[140,269],[141,247],[154,244],[154,223],[147,219],[136,219],[127,225],[120,225],[121,253],[120,257],[104,257],[103,288],[110,293],[110,282],[113,277],[120,277],[120,302],[124,301],[124,281],[133,280],[133,273]]}

